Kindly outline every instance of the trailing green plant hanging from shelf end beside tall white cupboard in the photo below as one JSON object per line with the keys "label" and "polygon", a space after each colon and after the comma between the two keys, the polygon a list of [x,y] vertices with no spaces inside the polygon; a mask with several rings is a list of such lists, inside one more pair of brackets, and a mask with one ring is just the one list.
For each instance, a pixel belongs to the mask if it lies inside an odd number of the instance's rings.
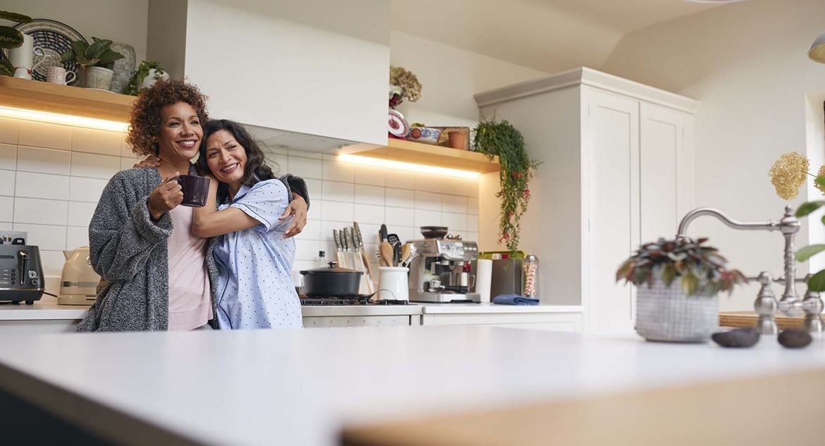
{"label": "trailing green plant hanging from shelf end beside tall white cupboard", "polygon": [[498,243],[507,242],[507,249],[518,249],[521,215],[530,202],[530,179],[541,162],[530,158],[521,132],[506,120],[482,120],[473,129],[473,148],[491,160],[498,157],[501,165],[499,181],[502,190],[496,193],[501,200],[498,220]]}

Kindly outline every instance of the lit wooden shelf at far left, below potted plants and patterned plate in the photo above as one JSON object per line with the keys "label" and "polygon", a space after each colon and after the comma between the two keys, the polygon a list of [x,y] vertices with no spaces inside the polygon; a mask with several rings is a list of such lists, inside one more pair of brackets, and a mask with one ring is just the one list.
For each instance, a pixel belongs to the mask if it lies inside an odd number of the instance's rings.
{"label": "lit wooden shelf at far left, below potted plants and patterned plate", "polygon": [[129,122],[134,96],[0,76],[0,106]]}

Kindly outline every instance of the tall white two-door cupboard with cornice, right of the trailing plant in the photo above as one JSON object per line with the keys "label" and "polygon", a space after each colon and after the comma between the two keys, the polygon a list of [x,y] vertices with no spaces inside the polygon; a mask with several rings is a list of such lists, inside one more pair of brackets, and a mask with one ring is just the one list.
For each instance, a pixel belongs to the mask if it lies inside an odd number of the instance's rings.
{"label": "tall white two-door cupboard with cornice, right of the trailing plant", "polygon": [[[698,103],[590,68],[475,99],[482,119],[509,121],[544,162],[521,220],[521,247],[540,259],[541,303],[581,304],[585,331],[633,330],[635,289],[616,284],[615,270],[640,243],[673,237],[693,208]],[[480,205],[497,214],[496,202]]]}

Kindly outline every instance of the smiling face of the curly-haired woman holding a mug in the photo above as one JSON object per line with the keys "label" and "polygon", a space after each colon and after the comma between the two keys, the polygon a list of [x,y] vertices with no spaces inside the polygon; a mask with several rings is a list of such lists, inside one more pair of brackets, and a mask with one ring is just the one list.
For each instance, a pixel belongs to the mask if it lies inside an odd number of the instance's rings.
{"label": "smiling face of the curly-haired woman holding a mug", "polygon": [[198,143],[204,131],[195,108],[186,102],[175,102],[160,110],[158,155],[162,160],[189,162],[198,153]]}

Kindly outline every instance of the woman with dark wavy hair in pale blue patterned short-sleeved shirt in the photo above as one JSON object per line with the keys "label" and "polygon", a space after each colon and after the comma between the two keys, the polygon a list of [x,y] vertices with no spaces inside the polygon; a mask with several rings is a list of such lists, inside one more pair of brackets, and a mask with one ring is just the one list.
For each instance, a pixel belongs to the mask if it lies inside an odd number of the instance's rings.
{"label": "woman with dark wavy hair in pale blue patterned short-sleeved shirt", "polygon": [[295,240],[284,237],[290,221],[282,218],[289,190],[243,125],[213,120],[203,129],[198,167],[217,181],[210,181],[205,206],[195,209],[192,232],[219,237],[213,252],[219,328],[303,326],[291,275]]}

